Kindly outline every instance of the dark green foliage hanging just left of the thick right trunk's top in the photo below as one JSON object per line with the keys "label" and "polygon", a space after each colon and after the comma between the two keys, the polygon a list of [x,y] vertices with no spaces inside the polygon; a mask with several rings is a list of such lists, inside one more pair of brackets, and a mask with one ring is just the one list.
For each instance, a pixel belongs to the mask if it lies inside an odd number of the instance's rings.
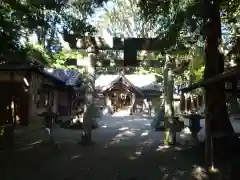
{"label": "dark green foliage hanging just left of the thick right trunk's top", "polygon": [[171,54],[196,43],[196,24],[200,23],[198,16],[194,16],[199,11],[197,3],[192,0],[140,1],[142,16],[158,27],[159,51]]}

